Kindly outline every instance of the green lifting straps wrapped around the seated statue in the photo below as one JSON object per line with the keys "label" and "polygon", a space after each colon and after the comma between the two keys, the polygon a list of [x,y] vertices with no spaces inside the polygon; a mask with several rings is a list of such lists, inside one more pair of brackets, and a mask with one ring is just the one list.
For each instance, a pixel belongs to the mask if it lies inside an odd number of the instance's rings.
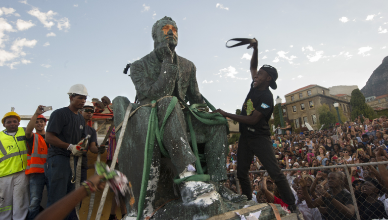
{"label": "green lifting straps wrapped around the seated statue", "polygon": [[[220,113],[203,113],[198,111],[197,107],[207,107],[212,111],[215,111],[213,105],[211,105],[208,100],[206,100],[203,96],[202,98],[205,100],[206,104],[193,104],[190,107],[186,103],[182,103],[182,105],[187,108],[189,111],[187,112],[187,123],[190,129],[190,136],[191,136],[191,144],[193,153],[196,156],[196,168],[197,168],[197,175],[191,175],[190,177],[179,179],[179,175],[177,175],[174,178],[175,184],[180,184],[183,181],[210,181],[210,176],[207,174],[204,174],[203,168],[201,167],[201,161],[200,161],[200,155],[198,154],[198,147],[197,147],[197,139],[195,131],[191,124],[191,114],[193,114],[198,120],[201,122],[208,124],[208,125],[215,125],[215,124],[225,124],[227,125],[228,121],[226,118],[224,118]],[[161,128],[159,129],[159,121],[158,121],[158,114],[157,114],[157,101],[152,101],[152,109],[150,114],[150,119],[148,123],[148,130],[147,130],[147,138],[146,138],[146,146],[144,148],[144,165],[143,165],[143,173],[141,178],[141,188],[140,188],[140,197],[139,202],[137,205],[137,220],[140,219],[140,217],[143,215],[143,208],[144,208],[144,201],[146,200],[146,193],[147,193],[147,187],[148,187],[148,181],[150,179],[150,169],[151,169],[151,162],[152,157],[154,153],[154,143],[155,138],[158,141],[159,148],[163,156],[171,158],[168,154],[167,150],[163,147],[163,134],[164,134],[164,127],[166,125],[167,119],[170,116],[172,110],[175,108],[176,103],[178,102],[178,99],[176,97],[173,97],[170,101],[170,104],[167,107],[166,114],[163,119],[163,123]],[[227,133],[229,134],[229,128],[227,127]],[[202,155],[201,155],[202,156]],[[201,158],[203,160],[203,158]],[[207,167],[204,167],[206,170]]]}

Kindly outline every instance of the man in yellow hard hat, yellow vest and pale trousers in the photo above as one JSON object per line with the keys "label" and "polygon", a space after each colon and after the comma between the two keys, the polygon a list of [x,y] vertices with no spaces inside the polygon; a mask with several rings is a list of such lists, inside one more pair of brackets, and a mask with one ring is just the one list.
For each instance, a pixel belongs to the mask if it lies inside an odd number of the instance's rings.
{"label": "man in yellow hard hat, yellow vest and pale trousers", "polygon": [[25,219],[28,212],[27,153],[25,127],[19,127],[20,116],[8,112],[0,131],[0,219]]}

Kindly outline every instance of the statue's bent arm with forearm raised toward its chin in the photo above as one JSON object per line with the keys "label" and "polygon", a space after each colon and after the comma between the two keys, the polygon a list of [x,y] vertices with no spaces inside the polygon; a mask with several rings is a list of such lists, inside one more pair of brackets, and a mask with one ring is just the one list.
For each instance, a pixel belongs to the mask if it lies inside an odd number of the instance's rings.
{"label": "statue's bent arm with forearm raised toward its chin", "polygon": [[130,72],[136,92],[150,99],[170,96],[174,91],[178,66],[172,63],[162,63],[156,80],[151,76],[157,73],[150,71],[152,70],[142,62],[133,63]]}

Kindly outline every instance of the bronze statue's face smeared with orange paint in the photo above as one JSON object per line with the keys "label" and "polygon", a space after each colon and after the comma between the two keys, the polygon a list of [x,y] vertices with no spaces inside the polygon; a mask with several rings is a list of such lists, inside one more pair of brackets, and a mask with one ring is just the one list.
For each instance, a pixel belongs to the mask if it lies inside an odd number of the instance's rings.
{"label": "bronze statue's face smeared with orange paint", "polygon": [[163,20],[159,23],[159,31],[157,31],[157,40],[159,42],[168,42],[170,46],[178,44],[178,28],[174,22]]}

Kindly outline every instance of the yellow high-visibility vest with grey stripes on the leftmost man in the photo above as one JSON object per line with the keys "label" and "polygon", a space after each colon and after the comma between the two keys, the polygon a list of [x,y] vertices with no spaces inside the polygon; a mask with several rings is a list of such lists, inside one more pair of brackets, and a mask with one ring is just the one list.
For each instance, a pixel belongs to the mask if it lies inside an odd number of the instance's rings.
{"label": "yellow high-visibility vest with grey stripes on the leftmost man", "polygon": [[0,177],[25,170],[27,143],[25,127],[19,127],[15,136],[0,131]]}

